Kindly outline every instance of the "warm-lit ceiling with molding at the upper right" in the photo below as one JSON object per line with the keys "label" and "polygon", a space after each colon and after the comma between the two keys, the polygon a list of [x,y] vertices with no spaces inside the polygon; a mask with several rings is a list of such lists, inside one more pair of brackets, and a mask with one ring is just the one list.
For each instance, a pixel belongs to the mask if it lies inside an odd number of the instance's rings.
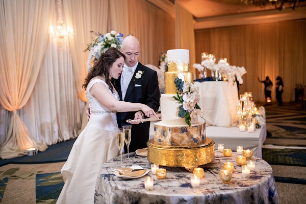
{"label": "warm-lit ceiling with molding at the upper right", "polygon": [[[146,0],[175,17],[175,0]],[[282,11],[273,5],[265,8],[244,4],[241,0],[176,0],[194,16],[194,29],[263,24],[306,18],[306,1],[295,9]],[[245,0],[244,0],[245,1]]]}

